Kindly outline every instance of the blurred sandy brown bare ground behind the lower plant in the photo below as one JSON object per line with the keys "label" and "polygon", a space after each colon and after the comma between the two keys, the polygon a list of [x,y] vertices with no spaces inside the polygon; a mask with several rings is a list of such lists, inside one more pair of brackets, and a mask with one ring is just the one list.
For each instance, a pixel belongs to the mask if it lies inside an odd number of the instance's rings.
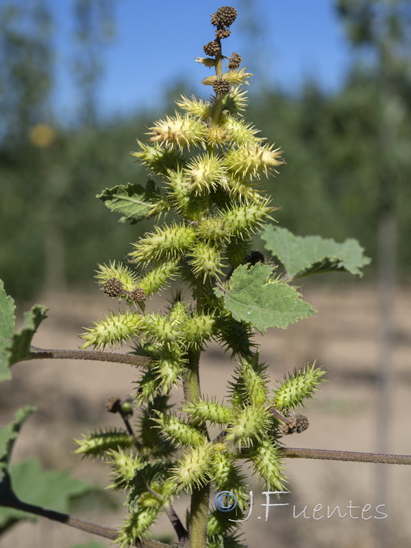
{"label": "blurred sandy brown bare ground behind the lower plant", "polygon": [[[316,316],[258,336],[262,359],[269,363],[273,381],[316,359],[327,369],[327,380],[304,413],[310,428],[286,438],[290,447],[376,451],[379,425],[375,419],[379,392],[378,301],[375,288],[362,280],[353,286],[310,286],[304,298],[319,311]],[[46,295],[39,302],[50,308],[34,339],[43,348],[77,348],[77,334],[110,307],[102,295]],[[384,402],[389,413],[388,453],[411,454],[411,295],[401,288],[396,303],[396,344],[392,370],[392,396]],[[234,363],[211,345],[201,362],[202,391],[222,398]],[[13,379],[0,386],[1,423],[12,419],[25,404],[38,411],[25,425],[14,451],[14,460],[37,456],[42,465],[107,485],[108,469],[101,462],[73,455],[72,438],[103,425],[121,426],[105,411],[105,400],[132,392],[136,370],[122,364],[44,360],[23,362],[13,368]],[[175,401],[178,401],[179,394]],[[265,520],[266,495],[250,480],[254,505],[243,524],[250,548],[408,547],[411,540],[411,468],[399,465],[361,464],[294,459],[286,461],[289,495],[269,507]],[[384,481],[387,488],[384,490]],[[382,484],[382,487],[381,487]],[[378,485],[380,485],[378,487]],[[271,503],[276,503],[274,497]],[[184,516],[185,501],[177,503]],[[362,509],[366,510],[362,512]],[[320,508],[319,505],[322,505]],[[379,506],[378,505],[384,505]],[[295,506],[295,509],[293,507]],[[338,506],[338,512],[327,517]],[[347,510],[347,506],[351,509]],[[360,508],[353,508],[360,507]],[[378,508],[377,508],[378,507]],[[304,514],[300,514],[306,508]],[[294,514],[293,514],[294,510]],[[351,514],[350,514],[351,512]],[[89,512],[86,519],[108,526],[119,525],[123,508],[111,513]],[[386,514],[386,518],[384,515]],[[295,516],[297,517],[295,517]],[[321,517],[322,516],[322,517]],[[170,530],[164,522],[158,531]],[[92,537],[70,527],[45,520],[17,525],[1,537],[0,548],[66,548],[89,543]],[[110,540],[95,537],[101,545]]]}

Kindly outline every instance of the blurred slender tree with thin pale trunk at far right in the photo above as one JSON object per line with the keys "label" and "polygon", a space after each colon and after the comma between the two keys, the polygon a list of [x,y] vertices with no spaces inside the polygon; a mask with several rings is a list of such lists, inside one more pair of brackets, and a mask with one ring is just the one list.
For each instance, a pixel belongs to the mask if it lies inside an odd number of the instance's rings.
{"label": "blurred slender tree with thin pale trunk at far right", "polygon": [[[410,90],[410,5],[401,0],[340,0],[338,12],[345,21],[353,47],[370,59],[373,86],[367,86],[374,99],[368,123],[373,132],[368,155],[377,173],[371,196],[375,201],[378,234],[378,282],[380,295],[379,407],[377,412],[377,451],[387,451],[390,430],[393,349],[395,345],[395,289],[397,278],[397,199],[401,186],[403,157],[400,136],[406,121],[407,102],[404,91]],[[409,119],[409,113],[408,113]],[[371,123],[370,123],[371,122]],[[409,122],[409,120],[408,120]],[[372,138],[373,136],[373,138]],[[367,158],[364,151],[364,159]],[[375,171],[375,169],[373,171]],[[405,170],[402,170],[405,174]],[[387,499],[388,471],[378,470],[376,496]],[[386,546],[388,526],[377,542]]]}

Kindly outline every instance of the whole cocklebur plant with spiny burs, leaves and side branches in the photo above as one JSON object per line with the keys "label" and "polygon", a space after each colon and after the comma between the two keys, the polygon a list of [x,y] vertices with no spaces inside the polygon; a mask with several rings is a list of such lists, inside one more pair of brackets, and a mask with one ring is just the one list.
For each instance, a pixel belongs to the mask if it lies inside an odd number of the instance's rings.
{"label": "whole cocklebur plant with spiny burs, leaves and side branches", "polygon": [[[122,222],[153,217],[157,223],[132,243],[127,264],[99,266],[97,283],[117,301],[117,312],[86,329],[79,351],[43,350],[30,343],[45,309],[34,307],[14,333],[12,303],[1,294],[7,320],[0,326],[3,378],[10,377],[12,364],[38,358],[104,360],[139,368],[132,403],[115,397],[107,403],[108,411],[121,415],[124,428],[75,440],[76,453],[110,466],[110,487],[126,496],[125,521],[111,530],[66,519],[121,547],[166,546],[147,538],[163,513],[180,547],[241,547],[238,520],[249,503],[247,469],[266,489],[284,490],[287,457],[362,460],[361,453],[286,447],[284,436],[307,429],[308,418],[296,411],[319,390],[325,370],[315,363],[300,364],[275,384],[253,340],[256,331],[285,329],[314,314],[292,286],[295,279],[330,271],[360,275],[369,260],[355,240],[339,244],[318,236],[301,238],[269,223],[278,208],[260,184],[276,175],[284,160],[280,147],[245,120],[244,86],[251,75],[240,68],[240,55],[227,58],[222,53],[236,15],[229,6],[212,15],[214,39],[203,47],[207,56],[196,59],[214,69],[215,75],[203,79],[212,88],[210,99],[181,97],[179,110],[155,121],[147,138],[137,140],[131,154],[147,167],[147,184],[116,186],[99,195],[122,215]],[[258,233],[271,254],[267,262],[253,250]],[[178,288],[169,305],[153,310],[151,297],[172,281]],[[223,401],[203,394],[200,386],[201,354],[213,340],[235,363]],[[127,353],[113,351],[125,343],[131,347]],[[184,397],[173,406],[170,399],[178,386]],[[8,425],[10,443],[0,455],[0,504],[55,519],[52,512],[41,513],[33,505],[28,509],[12,492],[8,462],[25,416]],[[214,438],[210,426],[219,429]],[[394,462],[382,457],[373,462]],[[410,458],[401,462],[409,464]],[[223,491],[236,500],[231,512],[212,507],[214,493]],[[185,523],[173,507],[183,495],[190,497]]]}

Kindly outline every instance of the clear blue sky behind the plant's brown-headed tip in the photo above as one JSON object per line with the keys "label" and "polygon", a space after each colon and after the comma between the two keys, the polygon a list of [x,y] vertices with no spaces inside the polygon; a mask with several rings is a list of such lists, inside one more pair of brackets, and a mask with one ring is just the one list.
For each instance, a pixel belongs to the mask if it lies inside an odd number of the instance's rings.
{"label": "clear blue sky behind the plant's brown-headed tip", "polygon": [[[214,38],[210,14],[225,3],[188,0],[114,0],[116,37],[103,53],[105,72],[99,85],[99,110],[125,113],[157,106],[164,88],[185,79],[190,91],[208,97],[199,81],[210,69],[194,62],[202,46]],[[343,82],[349,66],[349,46],[336,17],[334,0],[245,0],[230,5],[238,10],[232,36],[223,53],[238,51],[253,73],[253,82],[279,85],[296,92],[313,77],[325,90]],[[68,69],[71,40],[71,0],[51,3],[58,32],[58,87],[55,101],[61,112],[75,111],[76,91]],[[244,33],[249,20],[257,36]]]}

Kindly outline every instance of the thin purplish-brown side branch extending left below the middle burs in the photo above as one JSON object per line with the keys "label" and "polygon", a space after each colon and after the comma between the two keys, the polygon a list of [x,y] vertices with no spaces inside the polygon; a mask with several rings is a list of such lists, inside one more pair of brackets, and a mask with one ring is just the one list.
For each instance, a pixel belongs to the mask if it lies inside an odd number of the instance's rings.
{"label": "thin purplish-brown side branch extending left below the middle burs", "polygon": [[103,352],[99,350],[59,350],[30,347],[29,354],[21,360],[92,360],[97,362],[113,362],[135,366],[147,366],[154,360],[146,356],[122,354],[119,352]]}

